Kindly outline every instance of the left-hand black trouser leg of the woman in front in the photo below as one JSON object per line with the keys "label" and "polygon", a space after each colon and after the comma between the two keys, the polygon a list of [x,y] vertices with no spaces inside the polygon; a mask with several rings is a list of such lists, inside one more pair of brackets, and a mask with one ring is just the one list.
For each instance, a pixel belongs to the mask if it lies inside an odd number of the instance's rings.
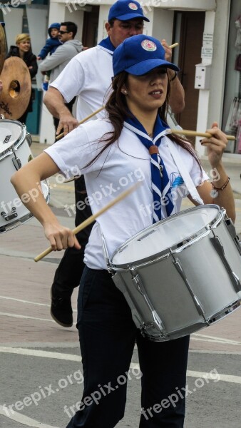
{"label": "left-hand black trouser leg of the woman in front", "polygon": [[77,327],[84,391],[68,428],[113,428],[124,415],[136,329],[125,298],[106,270],[84,270]]}

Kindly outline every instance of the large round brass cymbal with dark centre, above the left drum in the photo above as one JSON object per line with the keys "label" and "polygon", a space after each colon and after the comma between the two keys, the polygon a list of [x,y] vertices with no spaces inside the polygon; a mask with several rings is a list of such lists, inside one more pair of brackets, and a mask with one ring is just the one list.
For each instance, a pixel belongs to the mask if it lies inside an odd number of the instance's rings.
{"label": "large round brass cymbal with dark centre, above the left drum", "polygon": [[0,96],[0,114],[6,119],[19,119],[29,106],[31,76],[26,63],[18,56],[4,61],[0,80],[3,90]]}

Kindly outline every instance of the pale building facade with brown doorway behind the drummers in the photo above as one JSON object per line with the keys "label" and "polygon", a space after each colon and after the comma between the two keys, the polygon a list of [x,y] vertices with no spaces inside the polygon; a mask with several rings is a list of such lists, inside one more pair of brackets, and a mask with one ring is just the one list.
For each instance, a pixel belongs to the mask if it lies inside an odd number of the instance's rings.
{"label": "pale building facade with brown doorway behind the drummers", "polygon": [[[34,1],[26,4],[24,7],[34,53],[39,52],[45,42],[48,24],[56,21],[76,22],[76,39],[81,40],[84,46],[95,46],[106,36],[104,25],[111,4],[112,0],[50,0],[48,6],[34,4]],[[173,49],[173,62],[180,66],[186,107],[176,117],[178,123],[185,129],[205,132],[213,121],[217,121],[223,131],[237,136],[235,142],[228,144],[225,156],[238,158],[239,144],[241,154],[241,72],[235,69],[235,62],[241,54],[241,46],[237,44],[240,2],[144,0],[141,4],[144,14],[150,19],[150,23],[145,23],[145,34],[166,39],[168,44],[179,43],[178,48]],[[14,17],[16,33],[23,9],[15,8],[4,16],[8,43],[11,39],[9,19],[12,21]],[[41,75],[38,75],[36,85],[39,90],[41,79]],[[237,116],[234,118],[235,108]],[[234,118],[233,123],[230,118]],[[239,132],[240,141],[237,135]],[[54,141],[51,115],[44,106],[41,108],[40,141]],[[205,156],[200,138],[196,138],[194,143],[199,155]]]}

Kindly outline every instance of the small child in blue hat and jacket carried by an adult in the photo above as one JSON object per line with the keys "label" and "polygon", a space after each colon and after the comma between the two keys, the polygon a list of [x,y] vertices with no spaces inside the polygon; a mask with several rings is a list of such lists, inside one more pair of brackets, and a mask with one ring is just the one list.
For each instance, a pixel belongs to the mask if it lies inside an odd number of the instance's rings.
{"label": "small child in blue hat and jacket carried by an adult", "polygon": [[[53,22],[48,27],[48,35],[49,38],[46,40],[46,44],[41,49],[39,55],[37,56],[37,59],[44,59],[48,54],[53,54],[53,52],[56,51],[58,46],[61,45],[61,41],[58,39],[60,24],[58,22]],[[46,71],[44,74],[44,81],[43,81],[43,91],[48,91],[48,82],[50,78],[50,71]]]}

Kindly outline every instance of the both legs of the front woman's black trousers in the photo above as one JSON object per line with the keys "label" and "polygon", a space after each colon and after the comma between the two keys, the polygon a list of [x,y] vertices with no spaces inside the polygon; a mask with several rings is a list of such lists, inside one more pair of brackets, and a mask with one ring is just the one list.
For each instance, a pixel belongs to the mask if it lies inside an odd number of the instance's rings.
{"label": "both legs of the front woman's black trousers", "polygon": [[127,380],[135,375],[128,373],[135,342],[142,373],[140,428],[183,428],[189,336],[168,342],[142,337],[108,271],[88,267],[77,327],[84,390],[67,428],[113,428],[123,418]]}

